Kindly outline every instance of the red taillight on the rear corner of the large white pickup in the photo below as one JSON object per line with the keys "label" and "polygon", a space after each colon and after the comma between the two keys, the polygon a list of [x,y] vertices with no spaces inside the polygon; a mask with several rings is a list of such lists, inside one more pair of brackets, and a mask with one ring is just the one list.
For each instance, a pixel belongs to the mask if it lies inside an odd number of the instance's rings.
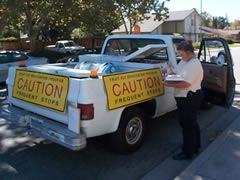
{"label": "red taillight on the rear corner of the large white pickup", "polygon": [[91,120],[94,118],[93,104],[78,104],[80,109],[81,120]]}

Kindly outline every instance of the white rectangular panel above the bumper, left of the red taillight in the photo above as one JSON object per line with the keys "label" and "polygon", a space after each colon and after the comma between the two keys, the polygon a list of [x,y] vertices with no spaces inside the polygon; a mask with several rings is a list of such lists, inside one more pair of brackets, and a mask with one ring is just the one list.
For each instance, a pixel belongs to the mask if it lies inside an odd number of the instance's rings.
{"label": "white rectangular panel above the bumper, left of the red taillight", "polygon": [[68,106],[68,129],[80,133],[80,109]]}

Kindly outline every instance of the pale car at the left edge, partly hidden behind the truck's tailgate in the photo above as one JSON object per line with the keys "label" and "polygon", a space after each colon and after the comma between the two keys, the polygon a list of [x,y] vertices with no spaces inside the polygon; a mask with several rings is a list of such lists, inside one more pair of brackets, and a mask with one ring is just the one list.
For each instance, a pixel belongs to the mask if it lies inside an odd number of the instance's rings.
{"label": "pale car at the left edge, partly hidden behind the truck's tailgate", "polygon": [[0,52],[0,83],[5,82],[8,76],[8,68],[18,66],[20,61],[26,65],[47,64],[47,58],[36,58],[22,52],[2,51]]}

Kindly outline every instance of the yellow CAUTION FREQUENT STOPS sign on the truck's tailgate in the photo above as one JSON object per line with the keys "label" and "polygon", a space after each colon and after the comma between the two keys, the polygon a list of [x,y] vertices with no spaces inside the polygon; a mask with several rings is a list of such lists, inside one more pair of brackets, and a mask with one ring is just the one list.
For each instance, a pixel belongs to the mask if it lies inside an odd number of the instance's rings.
{"label": "yellow CAUTION FREQUENT STOPS sign on the truck's tailgate", "polygon": [[65,112],[69,78],[22,69],[16,70],[14,98]]}

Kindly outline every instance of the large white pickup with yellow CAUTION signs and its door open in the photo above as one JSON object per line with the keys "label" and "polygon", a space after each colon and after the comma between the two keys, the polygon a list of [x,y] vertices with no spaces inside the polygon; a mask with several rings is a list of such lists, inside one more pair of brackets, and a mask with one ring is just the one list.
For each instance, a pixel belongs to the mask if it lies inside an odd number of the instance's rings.
{"label": "large white pickup with yellow CAUTION signs and its door open", "polygon": [[[72,150],[86,147],[87,138],[108,134],[114,150],[137,150],[146,121],[176,109],[174,88],[163,87],[167,63],[176,66],[172,35],[114,35],[101,54],[79,56],[79,62],[13,67],[9,71],[8,101],[1,116],[35,135]],[[218,41],[221,47],[208,48]],[[216,63],[224,50],[225,61]],[[203,39],[198,58],[204,68],[204,100],[232,104],[233,63],[224,39]],[[159,118],[160,120],[161,118]]]}

